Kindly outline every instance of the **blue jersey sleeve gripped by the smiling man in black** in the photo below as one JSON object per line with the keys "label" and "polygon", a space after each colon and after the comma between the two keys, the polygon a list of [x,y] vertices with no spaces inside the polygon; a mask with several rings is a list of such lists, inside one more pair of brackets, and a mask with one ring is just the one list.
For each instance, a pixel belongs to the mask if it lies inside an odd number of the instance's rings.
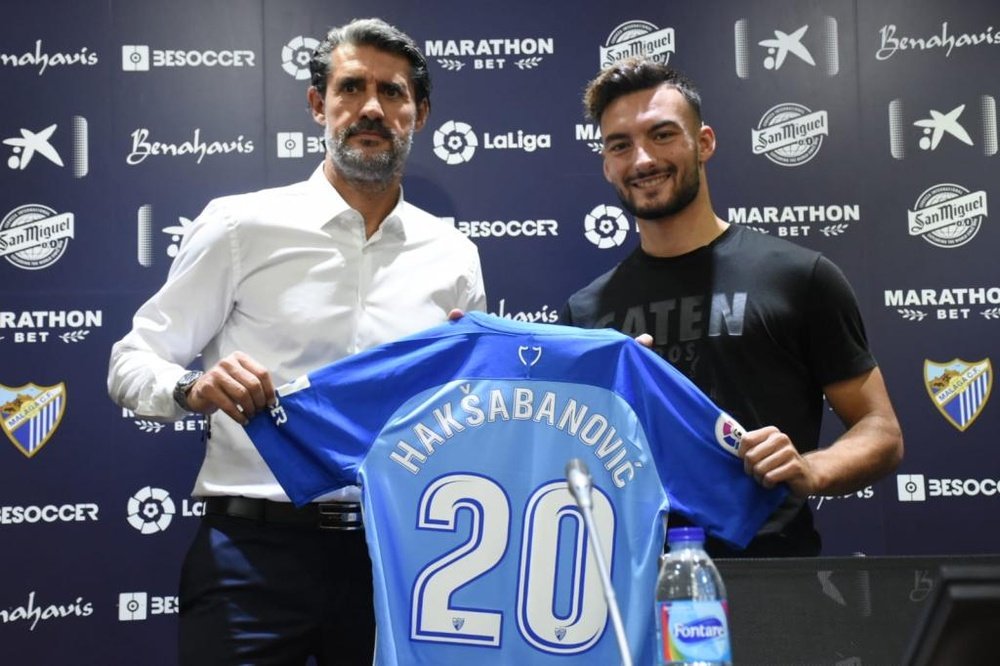
{"label": "blue jersey sleeve gripped by the smiling man in black", "polygon": [[624,395],[647,426],[670,511],[685,515],[738,548],[753,538],[788,494],[767,489],[743,470],[743,428],[670,364],[638,344]]}

